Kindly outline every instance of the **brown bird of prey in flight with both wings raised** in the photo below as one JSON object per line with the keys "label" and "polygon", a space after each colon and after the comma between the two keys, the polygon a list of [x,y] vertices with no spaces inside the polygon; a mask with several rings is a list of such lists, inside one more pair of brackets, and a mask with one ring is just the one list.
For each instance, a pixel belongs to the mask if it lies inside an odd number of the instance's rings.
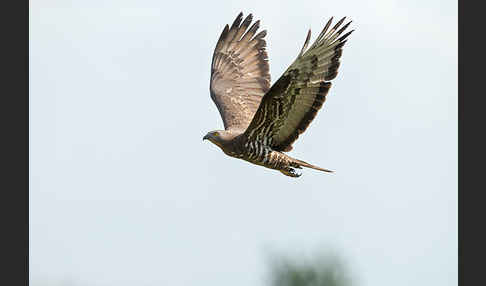
{"label": "brown bird of prey in flight with both wings raised", "polygon": [[324,103],[353,31],[341,34],[351,22],[341,27],[344,17],[330,28],[331,18],[307,49],[309,29],[297,58],[270,86],[266,31],[257,34],[260,20],[251,25],[252,19],[250,14],[243,20],[240,13],[231,27],[224,27],[216,44],[209,89],[224,130],[207,133],[203,141],[211,141],[231,157],[290,177],[299,177],[294,168],[302,167],[332,172],[284,152],[292,149]]}

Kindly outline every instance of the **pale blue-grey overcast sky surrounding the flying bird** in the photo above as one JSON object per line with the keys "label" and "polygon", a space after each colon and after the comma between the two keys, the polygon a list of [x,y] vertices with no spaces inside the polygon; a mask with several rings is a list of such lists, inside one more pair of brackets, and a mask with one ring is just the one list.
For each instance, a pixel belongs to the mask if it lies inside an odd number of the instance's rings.
{"label": "pale blue-grey overcast sky surrounding the flying bird", "polygon": [[[293,179],[227,157],[210,61],[243,11],[272,83],[353,20]],[[32,286],[264,286],[333,249],[361,286],[457,285],[457,1],[31,1]]]}

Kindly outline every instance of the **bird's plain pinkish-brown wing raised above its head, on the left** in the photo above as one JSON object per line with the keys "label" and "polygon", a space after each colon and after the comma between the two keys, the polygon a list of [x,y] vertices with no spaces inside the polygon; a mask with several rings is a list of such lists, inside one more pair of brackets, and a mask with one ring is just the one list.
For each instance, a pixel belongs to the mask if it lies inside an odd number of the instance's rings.
{"label": "bird's plain pinkish-brown wing raised above its head, on the left", "polygon": [[231,28],[226,25],[219,37],[213,54],[209,88],[224,128],[241,132],[250,124],[263,95],[270,88],[263,39],[266,31],[255,35],[260,21],[248,29],[252,15],[248,15],[243,23],[242,18],[243,13],[240,13]]}

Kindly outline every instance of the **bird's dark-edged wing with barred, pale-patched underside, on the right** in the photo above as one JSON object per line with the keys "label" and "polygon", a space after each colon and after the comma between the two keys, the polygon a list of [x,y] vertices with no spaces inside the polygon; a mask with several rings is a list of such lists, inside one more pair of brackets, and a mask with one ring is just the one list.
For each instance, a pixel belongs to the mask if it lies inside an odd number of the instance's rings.
{"label": "bird's dark-edged wing with barred, pale-patched underside, on the right", "polygon": [[324,103],[331,87],[329,80],[337,75],[342,47],[353,32],[339,37],[351,23],[339,29],[344,19],[329,30],[331,18],[306,50],[309,30],[297,59],[263,97],[245,131],[248,139],[263,141],[277,151],[292,149],[292,143],[307,129]]}

